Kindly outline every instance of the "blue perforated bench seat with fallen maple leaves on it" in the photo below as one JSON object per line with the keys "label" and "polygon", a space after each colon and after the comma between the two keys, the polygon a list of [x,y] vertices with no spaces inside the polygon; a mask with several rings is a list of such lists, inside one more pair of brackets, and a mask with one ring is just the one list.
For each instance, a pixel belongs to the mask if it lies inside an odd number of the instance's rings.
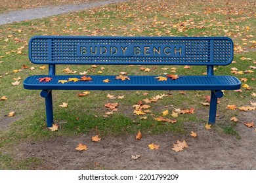
{"label": "blue perforated bench seat with fallen maple leaves on it", "polygon": [[[49,82],[39,82],[39,78],[51,77]],[[90,81],[70,81],[64,84],[59,80],[81,78],[81,75],[37,75],[24,80],[28,90],[238,90],[241,82],[234,76],[179,76],[177,80],[167,78],[158,81],[158,76],[129,76],[130,80],[117,80],[116,76],[90,76]],[[105,79],[110,82],[103,82]]]}

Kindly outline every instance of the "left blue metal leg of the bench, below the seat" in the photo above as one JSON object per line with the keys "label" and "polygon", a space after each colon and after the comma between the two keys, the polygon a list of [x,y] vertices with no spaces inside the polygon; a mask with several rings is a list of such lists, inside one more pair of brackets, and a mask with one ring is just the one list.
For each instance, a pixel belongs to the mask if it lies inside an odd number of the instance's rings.
{"label": "left blue metal leg of the bench, below the seat", "polygon": [[53,127],[53,97],[52,90],[43,90],[41,97],[45,98],[46,122],[47,127]]}

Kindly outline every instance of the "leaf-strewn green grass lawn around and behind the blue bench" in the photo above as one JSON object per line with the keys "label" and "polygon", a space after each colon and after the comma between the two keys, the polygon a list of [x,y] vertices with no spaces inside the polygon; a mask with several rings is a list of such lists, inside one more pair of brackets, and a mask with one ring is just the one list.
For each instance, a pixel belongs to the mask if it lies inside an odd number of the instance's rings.
{"label": "leaf-strewn green grass lawn around and behind the blue bench", "polygon": [[[70,2],[70,1],[69,1]],[[146,2],[146,3],[145,3]],[[182,2],[182,3],[181,3]],[[207,123],[209,107],[203,106],[209,92],[202,91],[53,91],[54,122],[59,130],[54,133],[45,124],[45,101],[40,91],[24,90],[22,81],[30,75],[47,75],[48,69],[33,65],[28,59],[28,41],[33,35],[104,35],[104,36],[228,36],[234,41],[234,63],[216,67],[215,75],[233,75],[242,79],[247,88],[240,92],[226,91],[218,105],[217,124],[225,133],[240,135],[230,118],[236,116],[239,122],[244,111],[228,110],[228,105],[254,107],[256,67],[256,14],[250,1],[130,1],[92,8],[41,20],[25,21],[0,27],[0,169],[26,169],[34,161],[15,161],[12,148],[15,144],[31,139],[52,138],[76,133],[123,135],[127,133],[156,134],[166,131],[190,133],[189,124]],[[202,75],[205,67],[148,66],[149,72],[140,67],[108,65],[60,65],[57,74],[66,74],[67,67],[75,75],[88,72],[89,75],[163,75],[176,71],[177,75]],[[104,68],[102,68],[104,67]],[[102,73],[99,73],[102,72]],[[236,71],[233,72],[232,71]],[[240,72],[239,72],[240,71]],[[67,74],[72,75],[72,74]],[[16,84],[15,84],[16,82]],[[107,95],[123,96],[110,99]],[[149,103],[150,111],[143,116],[133,114],[134,107],[144,99],[164,95],[156,103]],[[59,105],[68,103],[68,107]],[[118,103],[118,110],[106,115],[107,103]],[[195,114],[179,114],[177,123],[157,122],[161,112],[169,110],[167,118],[174,119],[175,108],[195,108]],[[11,116],[9,113],[14,112]],[[242,115],[243,112],[243,115]],[[255,110],[252,110],[255,115]],[[9,116],[10,115],[10,116]],[[142,117],[147,117],[143,119]],[[186,123],[186,125],[184,125]],[[7,125],[5,125],[7,124]],[[11,125],[8,125],[11,124]],[[4,126],[5,125],[5,126]],[[6,127],[7,126],[7,127]],[[214,128],[214,127],[213,127]],[[8,152],[6,154],[6,152]]]}

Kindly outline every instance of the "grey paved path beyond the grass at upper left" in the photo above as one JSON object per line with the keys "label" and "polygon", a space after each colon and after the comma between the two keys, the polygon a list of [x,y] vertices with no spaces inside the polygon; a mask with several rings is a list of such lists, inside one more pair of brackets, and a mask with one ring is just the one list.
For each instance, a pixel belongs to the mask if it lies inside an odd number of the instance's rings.
{"label": "grey paved path beyond the grass at upper left", "polygon": [[24,20],[33,20],[53,16],[57,14],[65,14],[67,12],[85,10],[87,8],[108,5],[111,3],[119,3],[127,0],[102,0],[93,3],[85,3],[79,5],[62,5],[58,7],[40,7],[25,10],[16,10],[0,14],[0,25],[11,24],[12,22],[20,22]]}

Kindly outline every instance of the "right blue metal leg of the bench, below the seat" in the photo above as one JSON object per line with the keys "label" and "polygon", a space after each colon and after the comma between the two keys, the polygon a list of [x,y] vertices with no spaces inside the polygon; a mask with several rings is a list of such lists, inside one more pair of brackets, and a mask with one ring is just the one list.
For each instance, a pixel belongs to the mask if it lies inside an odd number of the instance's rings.
{"label": "right blue metal leg of the bench, below the seat", "polygon": [[210,111],[209,111],[209,122],[208,124],[215,124],[216,113],[217,113],[217,101],[218,98],[223,97],[223,92],[221,91],[211,91],[211,103],[210,103]]}

